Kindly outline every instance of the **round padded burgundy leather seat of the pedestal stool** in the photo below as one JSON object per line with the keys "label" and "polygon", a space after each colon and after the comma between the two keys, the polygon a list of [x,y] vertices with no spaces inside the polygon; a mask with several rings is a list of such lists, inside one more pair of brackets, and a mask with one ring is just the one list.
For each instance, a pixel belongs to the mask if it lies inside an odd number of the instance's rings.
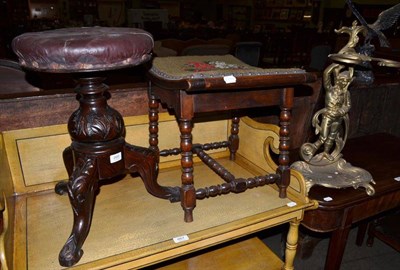
{"label": "round padded burgundy leather seat of the pedestal stool", "polygon": [[23,67],[51,72],[99,71],[139,65],[153,37],[136,28],[82,27],[25,33],[12,42]]}

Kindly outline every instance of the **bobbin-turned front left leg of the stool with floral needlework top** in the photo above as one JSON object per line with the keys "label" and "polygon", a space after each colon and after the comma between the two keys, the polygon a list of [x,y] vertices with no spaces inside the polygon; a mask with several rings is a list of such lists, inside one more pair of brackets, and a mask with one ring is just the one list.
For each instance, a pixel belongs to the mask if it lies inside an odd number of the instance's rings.
{"label": "bobbin-turned front left leg of the stool with floral needlework top", "polygon": [[181,132],[182,150],[181,205],[185,213],[185,222],[192,222],[193,209],[196,207],[196,191],[193,184],[192,121],[179,120],[179,130]]}

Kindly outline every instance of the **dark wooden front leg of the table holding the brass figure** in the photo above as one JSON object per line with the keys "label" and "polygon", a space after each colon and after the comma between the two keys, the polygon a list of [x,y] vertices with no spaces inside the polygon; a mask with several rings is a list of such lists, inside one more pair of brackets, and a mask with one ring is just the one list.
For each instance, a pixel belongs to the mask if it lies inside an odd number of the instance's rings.
{"label": "dark wooden front leg of the table holding the brass figure", "polygon": [[339,270],[342,263],[350,226],[332,232],[329,241],[328,254],[325,261],[325,270]]}

